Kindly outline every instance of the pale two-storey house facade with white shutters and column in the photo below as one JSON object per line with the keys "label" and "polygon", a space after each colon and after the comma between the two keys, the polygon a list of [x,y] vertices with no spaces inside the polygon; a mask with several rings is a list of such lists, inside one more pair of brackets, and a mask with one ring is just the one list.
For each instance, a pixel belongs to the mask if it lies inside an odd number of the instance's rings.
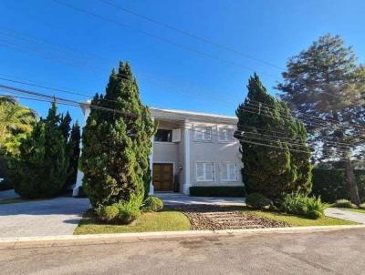
{"label": "pale two-storey house facade with white shutters and column", "polygon": [[[239,142],[234,138],[237,117],[150,108],[158,129],[152,138],[150,194],[190,188],[243,186]],[[85,117],[89,107],[83,107]],[[74,188],[78,195],[82,172]]]}

